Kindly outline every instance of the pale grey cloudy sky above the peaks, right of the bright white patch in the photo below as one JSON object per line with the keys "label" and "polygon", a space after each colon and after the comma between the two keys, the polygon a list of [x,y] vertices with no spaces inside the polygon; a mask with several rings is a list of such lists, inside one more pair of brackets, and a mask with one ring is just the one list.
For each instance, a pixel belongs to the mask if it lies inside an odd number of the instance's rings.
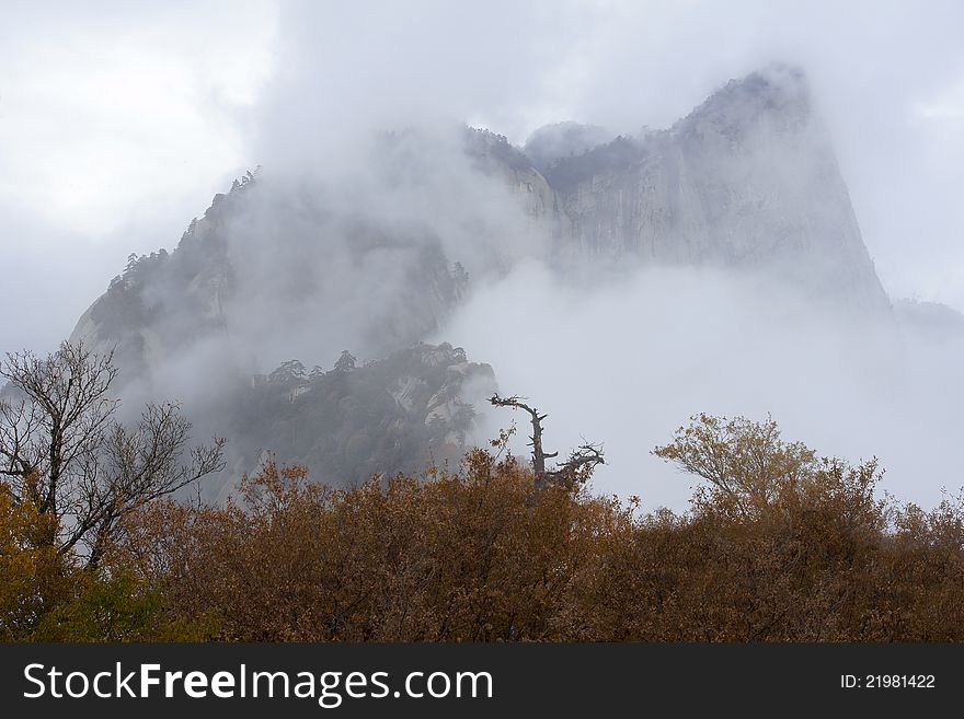
{"label": "pale grey cloudy sky above the peaks, right of the bright white patch", "polygon": [[728,78],[802,67],[884,286],[964,310],[960,3],[287,2],[251,121],[256,162],[309,174],[365,134],[469,123],[664,128]]}

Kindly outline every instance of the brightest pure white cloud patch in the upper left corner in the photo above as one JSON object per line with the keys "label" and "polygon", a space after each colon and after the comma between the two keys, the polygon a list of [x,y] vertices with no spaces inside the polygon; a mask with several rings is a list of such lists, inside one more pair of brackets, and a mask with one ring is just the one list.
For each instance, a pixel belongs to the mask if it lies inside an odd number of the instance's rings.
{"label": "brightest pure white cloud patch in the upper left corner", "polygon": [[273,39],[265,3],[94,10],[32,3],[0,31],[0,198],[90,236],[172,200],[197,207],[248,162],[237,115]]}

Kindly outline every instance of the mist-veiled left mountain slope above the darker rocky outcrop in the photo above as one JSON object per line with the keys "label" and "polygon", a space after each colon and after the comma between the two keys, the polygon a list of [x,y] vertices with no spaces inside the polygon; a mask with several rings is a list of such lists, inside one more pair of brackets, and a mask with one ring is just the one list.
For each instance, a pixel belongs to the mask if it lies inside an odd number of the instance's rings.
{"label": "mist-veiled left mountain slope above the darker rocky outcrop", "polygon": [[127,379],[146,367],[187,401],[226,370],[329,367],[345,349],[378,359],[425,338],[466,290],[456,272],[484,283],[549,254],[540,198],[485,164],[493,141],[464,126],[377,134],[347,164],[311,177],[265,169],[217,198],[171,255],[118,280],[136,293],[118,312],[142,308],[129,329],[146,338]]}

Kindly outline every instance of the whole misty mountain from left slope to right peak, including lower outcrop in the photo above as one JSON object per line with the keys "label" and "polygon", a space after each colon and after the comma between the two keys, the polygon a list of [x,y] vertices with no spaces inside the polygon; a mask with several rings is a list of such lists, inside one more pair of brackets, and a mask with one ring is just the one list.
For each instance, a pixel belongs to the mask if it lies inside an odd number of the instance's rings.
{"label": "whole misty mountain from left slope to right peak, including lower outcrop", "polygon": [[[416,343],[524,260],[560,282],[587,267],[725,268],[892,316],[806,81],[772,66],[638,137],[562,124],[519,149],[487,130],[413,129],[309,179],[249,175],[175,251],[133,257],[72,338],[116,347],[125,394],[174,394],[203,430],[233,432],[239,471],[267,450],[333,482],[411,472],[432,448],[457,455],[494,387],[460,350]],[[344,348],[389,359],[273,372]],[[426,364],[433,352],[447,359]]]}

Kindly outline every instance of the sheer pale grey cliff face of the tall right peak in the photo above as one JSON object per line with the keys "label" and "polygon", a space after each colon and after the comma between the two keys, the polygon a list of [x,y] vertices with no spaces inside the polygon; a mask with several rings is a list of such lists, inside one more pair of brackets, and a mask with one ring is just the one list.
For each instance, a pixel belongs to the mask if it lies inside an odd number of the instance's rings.
{"label": "sheer pale grey cliff face of the tall right peak", "polygon": [[888,306],[793,68],[731,81],[672,128],[560,158],[546,177],[576,256],[760,269],[837,304]]}

